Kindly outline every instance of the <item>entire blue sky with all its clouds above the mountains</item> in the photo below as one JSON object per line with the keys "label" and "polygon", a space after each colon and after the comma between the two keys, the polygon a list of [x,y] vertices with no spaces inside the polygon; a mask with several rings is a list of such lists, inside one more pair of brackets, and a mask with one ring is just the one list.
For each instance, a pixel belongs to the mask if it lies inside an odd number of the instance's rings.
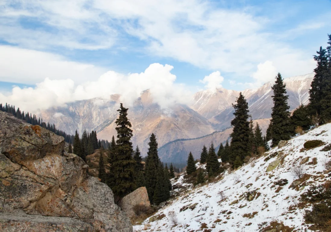
{"label": "entire blue sky with all its clouds above the mountains", "polygon": [[1,0],[0,102],[130,105],[149,88],[166,108],[311,73],[328,33],[330,0]]}

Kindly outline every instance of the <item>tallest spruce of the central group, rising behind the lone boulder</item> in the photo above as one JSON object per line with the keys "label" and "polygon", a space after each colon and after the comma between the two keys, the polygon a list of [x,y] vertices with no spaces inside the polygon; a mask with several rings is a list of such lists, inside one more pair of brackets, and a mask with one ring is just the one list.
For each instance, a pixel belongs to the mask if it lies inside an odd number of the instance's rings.
{"label": "tallest spruce of the central group, rising behind the lone boulder", "polygon": [[[119,117],[116,120],[117,141],[116,141],[116,159],[113,162],[112,169],[115,175],[115,186],[113,187],[114,195],[119,198],[131,193],[136,189],[134,178],[134,167],[136,162],[132,158],[132,130],[131,123],[127,118],[127,108],[120,104]],[[94,135],[93,135],[94,134]],[[94,132],[92,137],[95,136]],[[93,142],[93,140],[92,140]],[[96,141],[97,143],[97,141]]]}

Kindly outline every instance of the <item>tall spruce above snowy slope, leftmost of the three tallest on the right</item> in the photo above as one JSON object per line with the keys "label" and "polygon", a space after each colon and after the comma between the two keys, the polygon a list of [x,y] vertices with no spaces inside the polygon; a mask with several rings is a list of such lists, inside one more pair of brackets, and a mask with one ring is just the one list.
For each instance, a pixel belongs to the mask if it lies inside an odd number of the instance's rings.
{"label": "tall spruce above snowy slope, leftmost of the three tallest on the right", "polygon": [[237,156],[239,156],[241,162],[247,155],[250,155],[249,147],[249,110],[248,103],[245,97],[240,92],[239,97],[237,98],[237,104],[233,105],[235,112],[233,113],[235,118],[231,121],[233,126],[233,132],[231,134],[231,153],[229,157],[230,163],[234,163]]}

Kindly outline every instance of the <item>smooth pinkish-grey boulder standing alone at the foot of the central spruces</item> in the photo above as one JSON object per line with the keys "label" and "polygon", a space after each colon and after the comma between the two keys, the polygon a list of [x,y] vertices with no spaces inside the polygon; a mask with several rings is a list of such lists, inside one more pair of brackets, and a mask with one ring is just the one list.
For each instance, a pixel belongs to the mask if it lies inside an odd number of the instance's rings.
{"label": "smooth pinkish-grey boulder standing alone at the foot of the central spruces", "polygon": [[119,206],[122,210],[129,216],[129,218],[136,218],[138,215],[133,210],[135,205],[144,205],[145,207],[150,207],[151,203],[148,199],[146,187],[140,187],[133,191],[132,193],[126,195],[121,200]]}

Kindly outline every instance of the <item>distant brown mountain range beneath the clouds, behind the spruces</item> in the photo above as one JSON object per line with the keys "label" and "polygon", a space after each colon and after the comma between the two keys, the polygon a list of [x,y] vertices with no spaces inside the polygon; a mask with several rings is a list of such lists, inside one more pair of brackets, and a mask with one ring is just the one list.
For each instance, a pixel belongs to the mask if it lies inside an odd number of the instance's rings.
{"label": "distant brown mountain range beneath the clouds, behind the spruces", "polygon": [[[310,73],[284,79],[290,110],[308,103],[308,90],[313,76],[314,73]],[[273,105],[272,85],[272,82],[267,82],[257,89],[242,91],[248,101],[253,120],[270,118]],[[149,90],[145,90],[128,110],[128,118],[133,130],[132,143],[134,146],[138,145],[142,155],[145,156],[149,137],[154,133],[160,148],[167,144],[160,149],[160,157],[166,162],[185,161],[188,151],[192,149],[198,151],[198,147],[202,148],[203,144],[208,145],[208,141],[214,140],[216,135],[218,139],[214,142],[219,146],[219,143],[225,143],[230,135],[230,130],[223,130],[230,127],[234,112],[232,104],[235,103],[239,92],[225,88],[199,91],[193,95],[189,104],[175,104],[170,109],[164,110],[153,102]],[[93,98],[69,102],[63,107],[43,110],[40,116],[44,121],[54,123],[57,128],[69,134],[74,134],[75,130],[80,135],[84,129],[96,130],[99,139],[111,140],[113,135],[116,137],[115,120],[118,116],[119,97],[120,95],[113,94],[110,99]],[[267,121],[261,121],[264,130]],[[223,132],[212,134],[215,131]],[[168,144],[174,140],[203,136],[205,136],[203,140],[184,141],[184,144],[191,143],[191,145],[182,146],[179,142]],[[195,156],[198,154],[193,153]]]}

